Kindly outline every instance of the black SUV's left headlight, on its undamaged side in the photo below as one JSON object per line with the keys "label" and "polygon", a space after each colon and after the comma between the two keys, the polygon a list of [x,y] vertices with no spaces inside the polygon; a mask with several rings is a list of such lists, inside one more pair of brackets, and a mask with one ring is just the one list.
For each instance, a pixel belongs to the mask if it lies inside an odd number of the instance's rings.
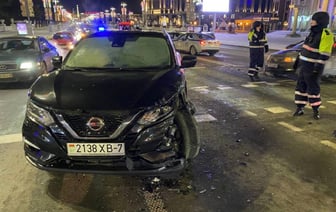
{"label": "black SUV's left headlight, on its undamaged side", "polygon": [[26,116],[35,123],[42,124],[44,126],[49,126],[54,123],[54,119],[47,110],[38,107],[31,101],[28,101],[27,103]]}

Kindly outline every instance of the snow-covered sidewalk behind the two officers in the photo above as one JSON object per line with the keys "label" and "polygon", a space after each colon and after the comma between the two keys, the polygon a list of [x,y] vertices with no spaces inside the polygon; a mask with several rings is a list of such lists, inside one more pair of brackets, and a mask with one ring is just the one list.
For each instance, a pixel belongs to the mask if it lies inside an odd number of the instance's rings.
{"label": "snow-covered sidewalk behind the two officers", "polygon": [[[307,32],[298,32],[300,37],[287,36],[291,34],[291,31],[279,30],[266,34],[269,48],[272,50],[284,49],[288,44],[297,43],[304,40],[307,36]],[[225,45],[243,46],[248,47],[247,33],[227,33],[216,32],[216,38]]]}

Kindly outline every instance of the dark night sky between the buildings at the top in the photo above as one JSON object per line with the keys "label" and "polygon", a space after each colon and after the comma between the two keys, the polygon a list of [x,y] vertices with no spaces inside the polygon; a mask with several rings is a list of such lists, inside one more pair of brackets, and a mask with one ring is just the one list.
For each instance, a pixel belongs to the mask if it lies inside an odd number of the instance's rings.
{"label": "dark night sky between the buildings at the top", "polygon": [[116,8],[117,13],[120,11],[120,3],[127,4],[127,11],[132,11],[136,14],[141,13],[141,0],[59,0],[60,3],[68,12],[76,12],[76,5],[78,4],[79,12],[101,12],[109,10],[111,7]]}

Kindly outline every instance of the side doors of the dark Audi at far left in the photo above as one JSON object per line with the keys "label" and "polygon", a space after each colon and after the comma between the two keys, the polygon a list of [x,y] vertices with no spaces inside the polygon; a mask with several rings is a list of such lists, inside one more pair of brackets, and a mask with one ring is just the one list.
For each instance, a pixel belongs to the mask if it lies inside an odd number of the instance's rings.
{"label": "side doors of the dark Audi at far left", "polygon": [[39,37],[38,42],[43,61],[46,63],[48,71],[50,71],[53,69],[52,58],[59,55],[57,49],[43,37]]}

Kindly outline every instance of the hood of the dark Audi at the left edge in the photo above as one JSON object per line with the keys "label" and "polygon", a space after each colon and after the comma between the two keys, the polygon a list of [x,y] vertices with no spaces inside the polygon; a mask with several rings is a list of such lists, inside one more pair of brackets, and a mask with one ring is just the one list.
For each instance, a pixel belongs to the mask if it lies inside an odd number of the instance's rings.
{"label": "hood of the dark Audi at the left edge", "polygon": [[38,52],[34,50],[27,51],[0,51],[0,62],[1,61],[15,61],[20,62],[22,60],[36,60]]}

